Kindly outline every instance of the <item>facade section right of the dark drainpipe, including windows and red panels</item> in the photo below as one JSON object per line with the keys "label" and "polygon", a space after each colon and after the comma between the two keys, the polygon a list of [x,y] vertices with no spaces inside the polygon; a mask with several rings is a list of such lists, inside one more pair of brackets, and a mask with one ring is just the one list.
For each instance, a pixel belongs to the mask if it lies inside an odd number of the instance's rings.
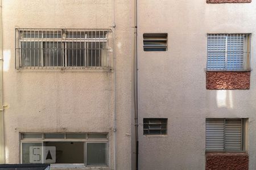
{"label": "facade section right of the dark drainpipe, including windows and red panels", "polygon": [[255,1],[138,6],[139,169],[256,169]]}

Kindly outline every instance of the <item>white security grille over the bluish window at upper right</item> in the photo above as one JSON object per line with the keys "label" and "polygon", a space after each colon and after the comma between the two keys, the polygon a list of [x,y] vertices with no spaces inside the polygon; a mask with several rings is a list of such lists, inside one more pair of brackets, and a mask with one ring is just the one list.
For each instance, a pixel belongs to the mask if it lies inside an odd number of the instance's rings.
{"label": "white security grille over the bluish window at upper right", "polygon": [[208,71],[249,71],[250,33],[207,35]]}

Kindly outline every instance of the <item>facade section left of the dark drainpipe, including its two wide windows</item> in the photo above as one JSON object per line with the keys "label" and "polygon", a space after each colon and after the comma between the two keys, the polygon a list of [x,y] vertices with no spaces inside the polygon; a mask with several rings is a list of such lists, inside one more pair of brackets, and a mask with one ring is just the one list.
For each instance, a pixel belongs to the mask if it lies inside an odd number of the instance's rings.
{"label": "facade section left of the dark drainpipe, including its two wide windows", "polygon": [[55,146],[55,169],[131,169],[133,15],[123,1],[2,1],[5,163]]}

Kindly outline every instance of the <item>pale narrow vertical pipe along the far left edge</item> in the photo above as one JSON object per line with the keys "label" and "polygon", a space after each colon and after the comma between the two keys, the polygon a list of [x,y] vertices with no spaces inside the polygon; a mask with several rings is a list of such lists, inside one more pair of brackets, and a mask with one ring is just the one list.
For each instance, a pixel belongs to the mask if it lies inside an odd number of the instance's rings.
{"label": "pale narrow vertical pipe along the far left edge", "polygon": [[3,129],[3,40],[2,1],[0,0],[0,164],[5,163],[5,139]]}

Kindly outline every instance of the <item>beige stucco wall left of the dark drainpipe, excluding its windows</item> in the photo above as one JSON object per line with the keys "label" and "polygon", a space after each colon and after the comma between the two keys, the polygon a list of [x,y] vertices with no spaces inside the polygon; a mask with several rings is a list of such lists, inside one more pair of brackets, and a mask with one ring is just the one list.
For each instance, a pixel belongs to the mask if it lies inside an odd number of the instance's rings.
{"label": "beige stucco wall left of the dark drainpipe, excluding its windows", "polygon": [[16,71],[14,43],[15,28],[111,28],[115,18],[117,169],[131,169],[133,10],[113,0],[3,0],[6,163],[19,163],[19,132],[108,132],[114,168],[114,72]]}

